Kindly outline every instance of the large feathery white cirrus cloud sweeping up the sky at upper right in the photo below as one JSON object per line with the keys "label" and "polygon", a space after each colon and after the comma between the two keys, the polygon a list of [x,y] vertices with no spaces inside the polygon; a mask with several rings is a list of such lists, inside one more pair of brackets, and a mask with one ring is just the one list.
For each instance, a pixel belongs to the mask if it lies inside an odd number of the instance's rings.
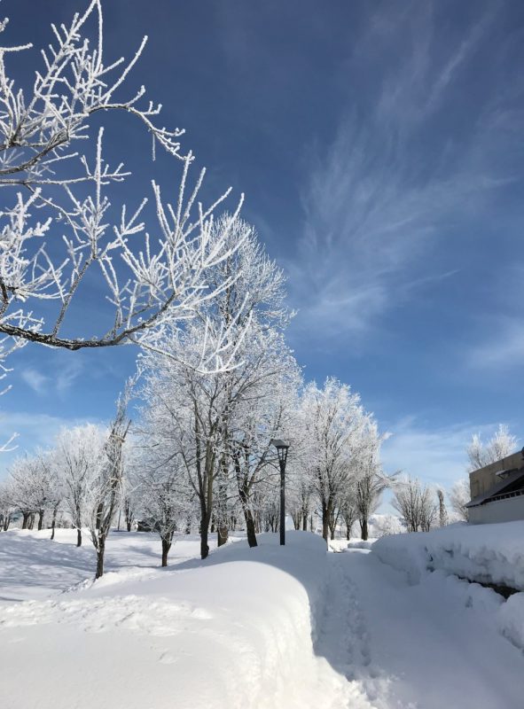
{"label": "large feathery white cirrus cloud sweeping up the sky at upper right", "polygon": [[[309,333],[364,336],[415,291],[455,277],[466,264],[446,258],[451,239],[514,179],[500,159],[514,134],[496,120],[504,106],[496,77],[476,102],[461,93],[494,8],[451,37],[435,4],[410,8],[381,4],[369,19],[348,85],[377,52],[382,71],[370,72],[366,95],[351,100],[332,144],[309,160],[298,258],[287,264],[296,325]],[[447,121],[458,105],[467,129]]]}

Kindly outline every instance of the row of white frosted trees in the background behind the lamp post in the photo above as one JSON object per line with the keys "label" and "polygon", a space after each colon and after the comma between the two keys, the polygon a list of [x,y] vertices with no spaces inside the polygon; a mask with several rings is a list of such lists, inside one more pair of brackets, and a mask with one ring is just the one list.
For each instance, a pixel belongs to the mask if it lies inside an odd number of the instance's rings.
{"label": "row of white frosted trees in the background behind the lamp post", "polygon": [[[358,520],[365,539],[387,485],[378,426],[358,394],[333,378],[321,388],[304,383],[285,343],[284,277],[253,227],[223,214],[210,240],[235,245],[208,269],[214,297],[143,347],[113,423],[64,430],[49,450],[20,456],[2,488],[4,526],[19,510],[23,526],[35,519],[42,528],[47,515],[54,531],[66,510],[79,545],[89,528],[98,575],[119,510],[129,526],[139,517],[160,534],[162,565],[176,531],[198,529],[202,558],[212,531],[221,545],[231,528],[243,528],[252,547],[261,531],[277,531],[277,437],[290,444],[287,510],[297,528],[318,517],[327,539],[340,525],[349,535]],[[207,360],[203,368],[217,332],[229,364]]]}

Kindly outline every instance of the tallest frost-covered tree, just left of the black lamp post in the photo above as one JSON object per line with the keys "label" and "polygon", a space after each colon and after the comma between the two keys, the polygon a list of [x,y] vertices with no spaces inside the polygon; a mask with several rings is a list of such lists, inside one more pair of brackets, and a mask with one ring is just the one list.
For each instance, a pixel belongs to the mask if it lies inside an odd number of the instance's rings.
{"label": "tallest frost-covered tree, just left of the black lamp post", "polygon": [[[275,386],[285,387],[286,379],[297,377],[281,333],[289,317],[282,272],[253,227],[239,217],[224,214],[214,225],[212,243],[215,238],[238,244],[208,271],[218,294],[202,305],[199,322],[162,333],[158,347],[148,347],[143,358],[145,418],[156,420],[154,428],[165,432],[171,455],[176,452],[182,460],[199,504],[203,558],[212,522],[219,541],[225,541],[238,501],[249,541],[256,543],[252,493],[270,470],[270,438],[285,410]],[[233,353],[227,369],[199,368],[199,353],[210,335]]]}

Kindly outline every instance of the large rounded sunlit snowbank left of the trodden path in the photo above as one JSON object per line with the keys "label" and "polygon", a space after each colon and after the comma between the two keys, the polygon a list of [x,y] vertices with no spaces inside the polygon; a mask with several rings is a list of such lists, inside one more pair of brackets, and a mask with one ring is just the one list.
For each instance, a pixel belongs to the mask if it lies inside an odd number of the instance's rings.
{"label": "large rounded sunlit snowbank left of the trodden path", "polygon": [[24,709],[101,700],[126,709],[324,706],[340,683],[313,650],[326,556],[316,535],[290,532],[282,548],[266,534],[257,549],[238,541],[205,562],[121,568],[74,593],[3,605],[3,701]]}

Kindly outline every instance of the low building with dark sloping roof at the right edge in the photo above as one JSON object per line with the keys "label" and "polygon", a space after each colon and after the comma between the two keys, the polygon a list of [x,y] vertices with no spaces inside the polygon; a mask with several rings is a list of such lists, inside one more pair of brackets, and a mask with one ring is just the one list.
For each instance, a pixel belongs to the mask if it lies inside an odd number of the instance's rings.
{"label": "low building with dark sloping roof at the right edge", "polygon": [[470,472],[469,487],[466,507],[473,524],[524,519],[524,448]]}

